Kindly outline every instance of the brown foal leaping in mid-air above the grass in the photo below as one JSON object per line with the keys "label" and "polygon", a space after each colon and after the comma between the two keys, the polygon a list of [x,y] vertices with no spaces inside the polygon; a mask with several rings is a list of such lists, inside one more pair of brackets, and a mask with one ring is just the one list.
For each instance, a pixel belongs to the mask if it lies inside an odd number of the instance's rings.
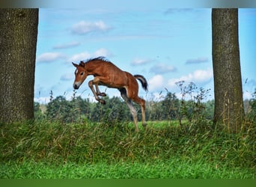
{"label": "brown foal leaping in mid-air above the grass", "polygon": [[[133,102],[137,102],[141,106],[142,113],[142,125],[146,126],[145,121],[145,100],[138,96],[138,81],[141,82],[144,91],[147,91],[147,80],[144,76],[134,75],[123,71],[112,64],[112,62],[106,60],[104,57],[92,58],[88,61],[80,61],[79,64],[72,62],[75,71],[75,81],[73,83],[74,89],[79,89],[87,76],[94,76],[94,79],[88,82],[89,88],[94,93],[95,99],[101,104],[105,105],[106,101],[99,96],[106,96],[106,93],[100,92],[99,85],[106,86],[108,88],[117,88],[121,97],[127,103],[129,111],[132,114],[133,121],[135,123],[135,131],[138,132],[137,124],[137,111],[132,105]],[[94,89],[95,86],[95,89]]]}

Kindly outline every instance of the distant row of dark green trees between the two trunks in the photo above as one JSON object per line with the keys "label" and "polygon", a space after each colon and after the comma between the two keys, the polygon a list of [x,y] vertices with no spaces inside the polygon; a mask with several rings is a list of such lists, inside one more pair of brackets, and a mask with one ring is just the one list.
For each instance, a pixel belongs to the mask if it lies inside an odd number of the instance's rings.
{"label": "distant row of dark green trees between the two trunks", "polygon": [[[182,95],[177,99],[175,93],[167,91],[160,100],[152,99],[147,101],[146,120],[179,120],[183,119],[213,119],[213,101],[207,101],[209,90],[196,88],[194,83],[184,85],[178,82]],[[161,94],[161,93],[160,93]],[[61,123],[83,123],[84,120],[92,122],[115,123],[132,121],[132,115],[126,103],[120,97],[104,97],[106,105],[99,102],[89,102],[73,93],[73,99],[67,100],[64,96],[53,98],[50,94],[50,102],[46,105],[46,118]],[[141,108],[134,103],[138,113],[138,120],[141,120]],[[45,114],[40,115],[40,105],[35,103],[35,116],[37,119],[44,119]]]}

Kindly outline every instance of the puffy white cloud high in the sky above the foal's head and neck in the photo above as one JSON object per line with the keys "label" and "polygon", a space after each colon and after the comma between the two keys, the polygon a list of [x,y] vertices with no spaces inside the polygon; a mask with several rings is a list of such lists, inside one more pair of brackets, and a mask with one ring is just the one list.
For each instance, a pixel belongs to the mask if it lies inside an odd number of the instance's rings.
{"label": "puffy white cloud high in the sky above the foal's head and neck", "polygon": [[103,21],[85,22],[81,21],[72,26],[71,31],[74,34],[88,34],[94,31],[109,31],[111,27]]}

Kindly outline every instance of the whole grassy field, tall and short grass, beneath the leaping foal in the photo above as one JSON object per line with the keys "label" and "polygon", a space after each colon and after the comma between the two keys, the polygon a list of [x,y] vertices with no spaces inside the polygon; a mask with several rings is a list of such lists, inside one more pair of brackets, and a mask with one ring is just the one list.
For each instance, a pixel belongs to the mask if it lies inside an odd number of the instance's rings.
{"label": "whole grassy field, tall and short grass, beneath the leaping foal", "polygon": [[210,121],[1,125],[1,179],[255,179],[255,123],[238,135]]}

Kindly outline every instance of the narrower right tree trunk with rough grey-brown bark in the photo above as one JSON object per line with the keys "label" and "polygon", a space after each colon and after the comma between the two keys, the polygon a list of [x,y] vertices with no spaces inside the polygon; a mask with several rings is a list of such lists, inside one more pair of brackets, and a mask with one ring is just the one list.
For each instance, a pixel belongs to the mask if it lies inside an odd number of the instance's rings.
{"label": "narrower right tree trunk with rough grey-brown bark", "polygon": [[238,132],[244,117],[238,10],[213,9],[214,122]]}

